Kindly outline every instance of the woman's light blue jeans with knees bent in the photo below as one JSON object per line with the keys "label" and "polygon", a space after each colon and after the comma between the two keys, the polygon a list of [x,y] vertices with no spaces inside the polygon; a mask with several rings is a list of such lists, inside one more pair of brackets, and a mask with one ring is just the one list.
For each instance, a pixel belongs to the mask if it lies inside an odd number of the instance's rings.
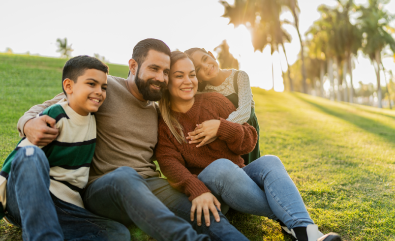
{"label": "woman's light blue jeans with knees bent", "polygon": [[218,159],[198,178],[221,202],[221,210],[229,206],[244,213],[279,219],[288,229],[314,224],[277,156],[262,156],[243,168],[230,160]]}

